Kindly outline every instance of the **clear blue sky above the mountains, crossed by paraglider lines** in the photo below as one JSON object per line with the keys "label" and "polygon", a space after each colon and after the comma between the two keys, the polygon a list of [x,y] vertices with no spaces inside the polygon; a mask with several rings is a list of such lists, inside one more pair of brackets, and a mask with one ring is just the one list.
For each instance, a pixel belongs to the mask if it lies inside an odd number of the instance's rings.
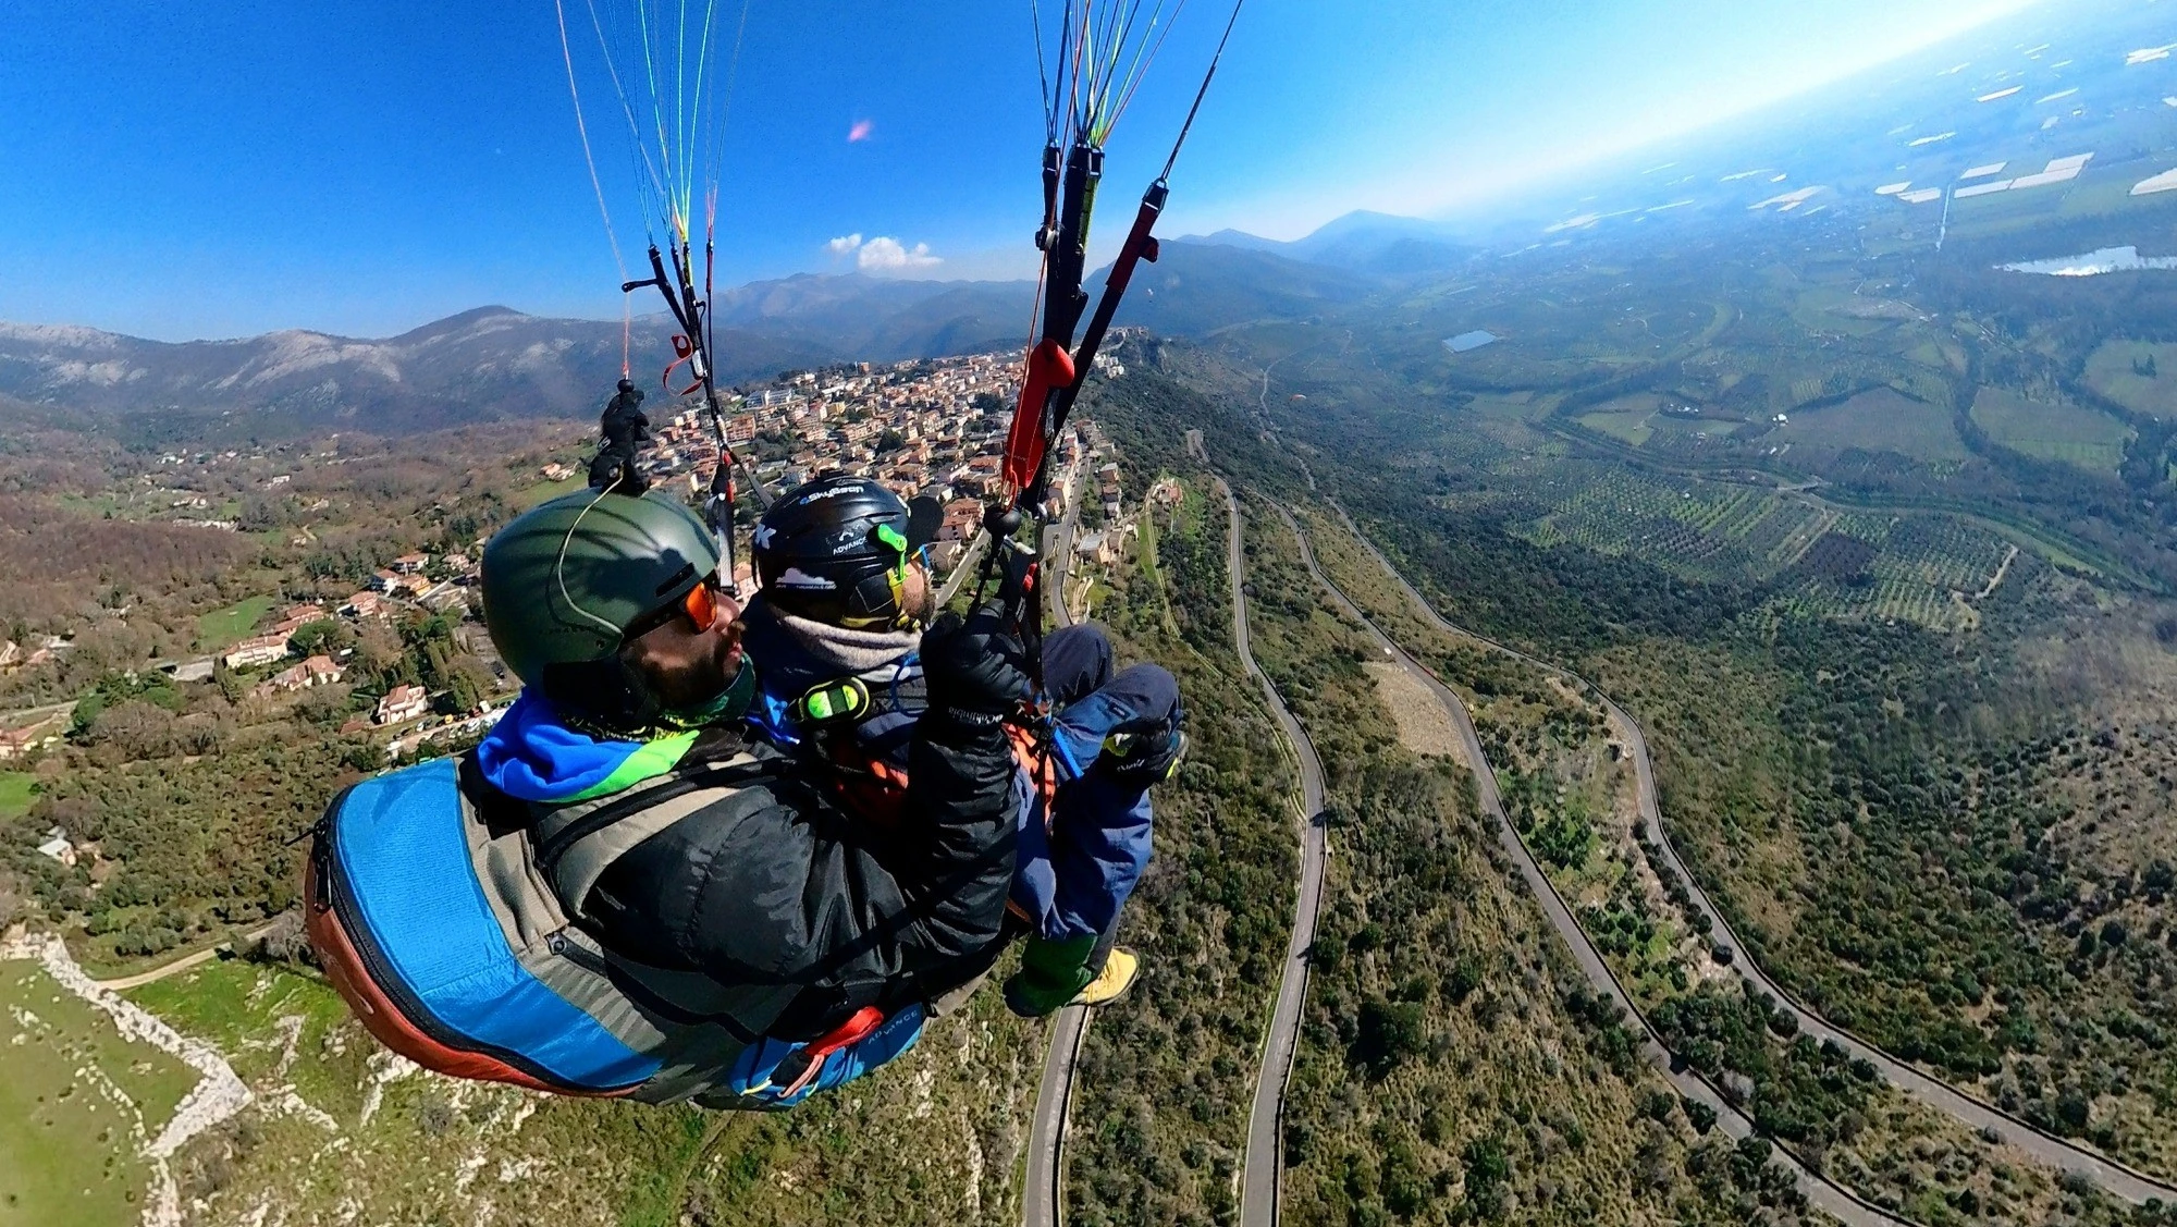
{"label": "clear blue sky above the mountains, crossed by paraglider lines", "polygon": [[[1350,209],[1441,213],[2022,7],[1247,0],[1163,231],[1297,237]],[[721,283],[890,255],[834,255],[847,235],[927,246],[936,263],[903,270],[919,276],[1032,272],[1028,13],[751,0]],[[568,17],[607,202],[640,246],[583,0]],[[1221,0],[1189,0],[1112,137],[1108,228],[1163,161],[1221,22]],[[388,335],[483,302],[618,313],[551,0],[7,4],[0,168],[0,320],[183,339]]]}

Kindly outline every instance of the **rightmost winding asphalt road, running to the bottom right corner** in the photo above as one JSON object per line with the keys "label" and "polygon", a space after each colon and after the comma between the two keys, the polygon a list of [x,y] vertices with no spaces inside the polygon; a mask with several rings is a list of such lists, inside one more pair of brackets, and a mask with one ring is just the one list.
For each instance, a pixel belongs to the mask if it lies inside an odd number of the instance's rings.
{"label": "rightmost winding asphalt road, running to the bottom right corner", "polygon": [[1635,772],[1635,777],[1639,781],[1639,814],[1641,814],[1641,818],[1648,820],[1648,829],[1655,833],[1655,842],[1663,851],[1663,859],[1670,864],[1670,868],[1674,868],[1678,872],[1681,879],[1685,879],[1685,888],[1687,888],[1687,892],[1694,898],[1694,907],[1698,907],[1709,918],[1709,922],[1715,927],[1713,929],[1715,935],[1720,940],[1729,942],[1731,949],[1735,951],[1737,957],[1731,964],[1733,970],[1737,975],[1746,977],[1755,988],[1759,988],[1759,990],[1768,992],[1770,996],[1774,996],[1776,1003],[1779,1003],[1779,1007],[1787,1009],[1798,1020],[1800,1033],[1811,1036],[1816,1040],[1833,1040],[1837,1046],[1842,1046],[1850,1055],[1861,1057],[1868,1064],[1872,1064],[1883,1075],[1883,1079],[1887,1079],[1892,1086],[1896,1086],[1905,1094],[1911,1094],[1914,1099],[1927,1103],[1929,1107],[1935,1107],[1940,1112],[1946,1112],[1946,1114],[1955,1116],[1957,1120],[1961,1120],[1964,1125],[1968,1125],[1968,1127],[1972,1127],[1977,1131],[1994,1131],[2005,1142],[2009,1142],[2009,1144],[2018,1147],[2020,1151],[2033,1155],[2033,1160],[2038,1160],[2042,1164],[2049,1164],[2049,1166],[2066,1170],[2066,1173],[2079,1173],[2079,1175],[2092,1179],[2096,1186],[2101,1186],[2103,1190],[2107,1190],[2114,1197],[2120,1197],[2120,1199],[2131,1201],[2131,1203],[2144,1203],[2149,1199],[2160,1199],[2164,1203],[2177,1201],[2177,1186],[2166,1183],[2166,1181],[2157,1181],[2157,1179],[2153,1179],[2153,1177],[2149,1177],[2144,1173],[2138,1173],[2138,1170],[2133,1170],[2133,1168],[2129,1168],[2125,1164],[2118,1164],[2118,1162],[2114,1162],[2114,1160],[2110,1160],[2105,1155],[2096,1155],[2096,1153],[2079,1149],[2079,1147],[2075,1147],[2075,1144],[2070,1144],[2070,1142],[2066,1142],[2062,1138],[2044,1133],[2044,1131],[2027,1125],[2025,1120],[2020,1120],[2020,1118],[2007,1114],[2007,1112],[2003,1112],[2001,1107],[1996,1107],[1992,1103],[1985,1103],[1981,1099],[1975,1099],[1975,1096],[1966,1094],[1964,1090],[1959,1090],[1959,1088],[1955,1088],[1955,1086],[1951,1086],[1951,1083],[1946,1083],[1942,1079],[1935,1079],[1935,1077],[1922,1073],[1920,1068],[1916,1068],[1911,1064],[1905,1064],[1903,1059],[1885,1053],[1883,1049],[1877,1049],[1868,1040],[1861,1040],[1859,1036],[1855,1036],[1850,1031],[1844,1031],[1842,1027],[1835,1027],[1833,1023],[1829,1023],[1820,1014],[1813,1014],[1811,1009],[1807,1009],[1805,1005],[1800,1005],[1789,992],[1785,992],[1783,988],[1779,988],[1776,981],[1772,981],[1768,977],[1768,972],[1763,972],[1752,962],[1752,957],[1748,955],[1746,942],[1742,942],[1739,935],[1731,931],[1731,925],[1724,920],[1722,912],[1718,912],[1715,905],[1709,903],[1707,892],[1700,890],[1700,879],[1696,879],[1685,868],[1685,862],[1678,857],[1678,851],[1672,846],[1670,831],[1663,827],[1663,811],[1661,811],[1661,807],[1657,805],[1657,798],[1655,798],[1655,766],[1652,766],[1652,761],[1648,757],[1648,738],[1646,738],[1646,733],[1641,733],[1641,727],[1633,720],[1633,716],[1628,716],[1622,707],[1618,707],[1615,703],[1611,703],[1611,698],[1607,694],[1602,694],[1587,679],[1583,679],[1583,677],[1578,677],[1578,674],[1574,674],[1574,672],[1570,672],[1565,668],[1552,666],[1550,661],[1535,659],[1535,657],[1530,657],[1530,655],[1526,655],[1526,653],[1522,653],[1517,648],[1509,648],[1504,644],[1498,644],[1496,640],[1489,640],[1485,635],[1476,635],[1472,631],[1465,631],[1465,629],[1454,627],[1452,622],[1448,622],[1441,614],[1437,614],[1437,609],[1411,583],[1406,583],[1406,577],[1400,574],[1400,570],[1395,566],[1391,566],[1391,561],[1387,557],[1382,557],[1382,550],[1378,550],[1376,544],[1369,542],[1367,535],[1363,535],[1358,531],[1358,526],[1354,526],[1352,518],[1345,516],[1343,507],[1339,509],[1339,516],[1345,518],[1345,526],[1354,531],[1354,537],[1361,540],[1361,544],[1372,555],[1376,555],[1376,561],[1382,563],[1382,568],[1391,574],[1391,579],[1398,581],[1398,585],[1428,616],[1430,622],[1435,622],[1443,631],[1450,631],[1454,635],[1461,635],[1461,637],[1478,642],[1478,644],[1487,644],[1487,646],[1491,646],[1491,648],[1496,648],[1496,650],[1500,650],[1504,655],[1511,655],[1511,657],[1528,661],[1528,664],[1533,664],[1537,668],[1550,670],[1557,677],[1565,679],[1570,685],[1574,685],[1578,690],[1585,690],[1598,703],[1602,703],[1602,707],[1609,711],[1611,720],[1620,727],[1620,731],[1626,733],[1626,738],[1633,744],[1631,746],[1633,748],[1633,772]]}

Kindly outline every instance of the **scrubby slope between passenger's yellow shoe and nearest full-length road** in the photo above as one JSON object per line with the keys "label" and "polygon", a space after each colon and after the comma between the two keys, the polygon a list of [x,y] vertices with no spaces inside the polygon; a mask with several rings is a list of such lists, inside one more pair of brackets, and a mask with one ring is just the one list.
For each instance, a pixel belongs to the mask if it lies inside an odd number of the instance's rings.
{"label": "scrubby slope between passenger's yellow shoe and nearest full-length road", "polygon": [[1141,981],[1095,1014],[1075,1068],[1067,1220],[1084,1225],[1237,1216],[1300,872],[1293,768],[1254,690],[1232,685],[1223,500],[1189,481],[1184,503],[1154,516],[1154,579],[1128,568],[1099,618],[1123,657],[1178,674],[1193,748],[1156,792],[1156,862],[1119,933],[1143,955]]}

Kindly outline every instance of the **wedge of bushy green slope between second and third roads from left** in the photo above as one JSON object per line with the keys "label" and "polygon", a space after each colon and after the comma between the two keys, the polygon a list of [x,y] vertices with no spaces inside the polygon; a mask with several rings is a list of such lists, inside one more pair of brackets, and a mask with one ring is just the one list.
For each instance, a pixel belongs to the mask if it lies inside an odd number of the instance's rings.
{"label": "wedge of bushy green slope between second and third roads from left", "polygon": [[1798,1220],[1789,1181],[1681,1112],[1587,992],[1472,777],[1385,735],[1374,648],[1328,614],[1293,540],[1260,509],[1247,529],[1256,653],[1317,742],[1335,814],[1282,1216]]}

